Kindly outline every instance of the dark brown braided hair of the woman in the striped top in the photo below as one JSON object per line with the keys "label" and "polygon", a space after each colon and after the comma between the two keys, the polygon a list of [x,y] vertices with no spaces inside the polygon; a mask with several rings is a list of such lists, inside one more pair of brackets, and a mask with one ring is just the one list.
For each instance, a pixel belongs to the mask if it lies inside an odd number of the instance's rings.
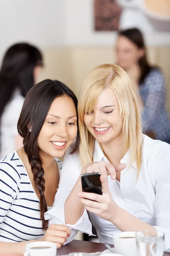
{"label": "dark brown braided hair of the woman in the striped top", "polygon": [[[37,137],[41,131],[42,125],[48,114],[50,106],[54,99],[59,96],[68,96],[73,99],[77,111],[77,98],[65,84],[57,80],[46,79],[36,84],[28,92],[23,108],[18,120],[17,129],[23,137],[23,145],[31,170],[34,174],[34,181],[40,193],[40,215],[42,219],[42,229],[46,230],[48,221],[44,219],[44,212],[47,211],[47,204],[44,196],[45,180],[44,170],[42,168],[42,159],[40,157],[40,148],[37,145]],[[31,132],[29,128],[31,126]],[[77,113],[77,138],[71,154],[79,148],[79,126]]]}

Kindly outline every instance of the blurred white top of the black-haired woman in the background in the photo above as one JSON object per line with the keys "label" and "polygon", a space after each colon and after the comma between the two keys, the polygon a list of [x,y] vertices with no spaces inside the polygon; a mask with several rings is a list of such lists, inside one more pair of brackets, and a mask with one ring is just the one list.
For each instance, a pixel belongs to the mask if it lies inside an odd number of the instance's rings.
{"label": "blurred white top of the black-haired woman in the background", "polygon": [[14,95],[4,108],[0,120],[0,159],[15,149],[14,136],[18,135],[17,122],[23,107],[24,97],[19,90],[14,91]]}

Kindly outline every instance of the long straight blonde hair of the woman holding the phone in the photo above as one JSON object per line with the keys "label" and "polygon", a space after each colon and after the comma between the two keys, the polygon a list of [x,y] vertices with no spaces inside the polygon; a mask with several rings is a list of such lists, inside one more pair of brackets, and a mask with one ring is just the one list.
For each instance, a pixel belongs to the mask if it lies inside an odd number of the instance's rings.
{"label": "long straight blonde hair of the woman holding the phone", "polygon": [[113,64],[95,67],[84,79],[78,101],[80,145],[79,155],[82,167],[93,162],[95,138],[88,131],[84,122],[85,113],[94,110],[96,99],[105,88],[110,88],[116,95],[119,114],[122,116],[122,136],[124,147],[122,157],[130,148],[130,166],[136,161],[140,169],[142,162],[142,126],[136,91],[127,73]]}

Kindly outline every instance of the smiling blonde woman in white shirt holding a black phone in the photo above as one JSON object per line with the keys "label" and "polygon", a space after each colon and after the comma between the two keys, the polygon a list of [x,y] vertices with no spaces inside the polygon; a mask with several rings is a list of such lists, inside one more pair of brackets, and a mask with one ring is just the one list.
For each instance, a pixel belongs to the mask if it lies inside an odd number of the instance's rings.
{"label": "smiling blonde woman in white shirt holding a black phone", "polygon": [[[170,248],[170,145],[142,134],[136,92],[119,66],[85,78],[78,103],[79,154],[65,156],[53,209],[46,218],[112,244],[113,233],[161,230]],[[113,166],[117,166],[114,168]],[[124,170],[122,170],[124,169]],[[122,172],[120,172],[122,170]],[[103,194],[82,192],[81,175],[100,172]],[[71,192],[71,193],[70,193]],[[68,198],[67,198],[68,197]]]}

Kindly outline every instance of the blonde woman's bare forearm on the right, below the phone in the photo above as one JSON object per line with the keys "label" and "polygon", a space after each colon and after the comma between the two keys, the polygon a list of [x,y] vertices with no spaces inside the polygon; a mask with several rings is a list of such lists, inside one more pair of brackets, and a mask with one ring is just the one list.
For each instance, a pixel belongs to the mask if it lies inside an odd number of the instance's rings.
{"label": "blonde woman's bare forearm on the right, below the phone", "polygon": [[121,231],[155,230],[153,226],[144,223],[120,207],[117,207],[111,222]]}

